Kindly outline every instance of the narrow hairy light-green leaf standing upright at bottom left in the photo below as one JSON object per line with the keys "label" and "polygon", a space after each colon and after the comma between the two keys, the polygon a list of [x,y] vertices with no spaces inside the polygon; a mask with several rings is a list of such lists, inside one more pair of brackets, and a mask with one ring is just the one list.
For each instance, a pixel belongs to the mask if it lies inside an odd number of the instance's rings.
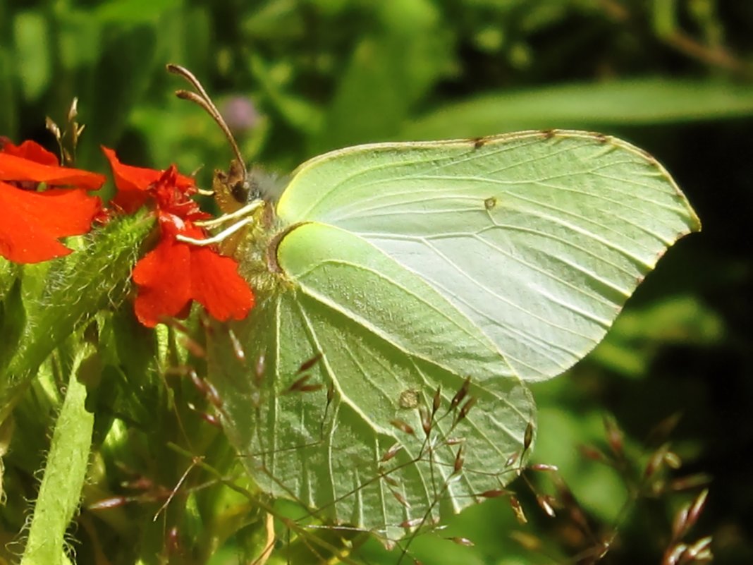
{"label": "narrow hairy light-green leaf standing upright at bottom left", "polygon": [[63,536],[78,509],[94,424],[94,414],[84,407],[86,386],[78,382],[78,372],[90,353],[90,348],[78,347],[71,368],[21,565],[69,563],[63,553]]}

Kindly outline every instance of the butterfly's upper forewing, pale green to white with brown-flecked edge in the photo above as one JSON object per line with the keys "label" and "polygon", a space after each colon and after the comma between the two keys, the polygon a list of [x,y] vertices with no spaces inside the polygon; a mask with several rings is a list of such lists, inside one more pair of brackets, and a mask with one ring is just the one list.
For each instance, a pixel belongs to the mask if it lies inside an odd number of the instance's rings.
{"label": "butterfly's upper forewing, pale green to white with brown-flecked edge", "polygon": [[334,151],[300,166],[277,213],[356,234],[415,273],[525,380],[593,349],[663,252],[700,229],[656,160],[571,131]]}

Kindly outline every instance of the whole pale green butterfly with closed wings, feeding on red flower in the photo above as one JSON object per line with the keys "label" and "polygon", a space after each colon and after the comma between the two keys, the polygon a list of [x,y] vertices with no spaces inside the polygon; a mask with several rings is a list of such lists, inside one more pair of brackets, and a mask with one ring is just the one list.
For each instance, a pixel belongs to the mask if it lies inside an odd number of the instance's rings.
{"label": "whole pale green butterfly with closed wings, feeding on red flower", "polygon": [[595,133],[332,151],[277,202],[236,156],[215,189],[246,214],[230,247],[258,305],[209,334],[224,429],[263,490],[388,543],[501,492],[526,382],[583,358],[700,229],[653,157]]}

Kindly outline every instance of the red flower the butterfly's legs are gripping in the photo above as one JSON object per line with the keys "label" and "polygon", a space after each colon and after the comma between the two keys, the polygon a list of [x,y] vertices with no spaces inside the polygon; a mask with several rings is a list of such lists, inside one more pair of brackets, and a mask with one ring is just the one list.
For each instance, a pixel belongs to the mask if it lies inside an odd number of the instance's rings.
{"label": "red flower the butterfly's legs are gripping", "polygon": [[[206,231],[194,224],[209,218],[189,198],[196,192],[193,179],[181,176],[170,166],[164,172],[120,163],[107,148],[115,185],[123,209],[154,200],[160,225],[160,242],[133,269],[136,317],[154,327],[166,316],[187,313],[197,301],[218,320],[243,319],[254,306],[254,293],[238,274],[238,264],[213,247],[197,246],[177,239],[178,235],[203,239]],[[118,197],[115,200],[118,200]],[[138,207],[138,206],[137,206]]]}

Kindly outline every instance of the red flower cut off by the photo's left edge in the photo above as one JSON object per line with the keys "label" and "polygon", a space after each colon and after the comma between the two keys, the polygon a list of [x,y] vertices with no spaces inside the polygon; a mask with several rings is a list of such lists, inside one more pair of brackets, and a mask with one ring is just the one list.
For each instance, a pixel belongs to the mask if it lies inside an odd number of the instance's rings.
{"label": "red flower cut off by the photo's left edge", "polygon": [[[105,177],[58,166],[57,157],[35,142],[0,139],[0,145],[0,255],[16,263],[68,255],[71,249],[58,239],[90,231],[102,205],[87,190],[101,187]],[[76,188],[38,191],[42,182]]]}

